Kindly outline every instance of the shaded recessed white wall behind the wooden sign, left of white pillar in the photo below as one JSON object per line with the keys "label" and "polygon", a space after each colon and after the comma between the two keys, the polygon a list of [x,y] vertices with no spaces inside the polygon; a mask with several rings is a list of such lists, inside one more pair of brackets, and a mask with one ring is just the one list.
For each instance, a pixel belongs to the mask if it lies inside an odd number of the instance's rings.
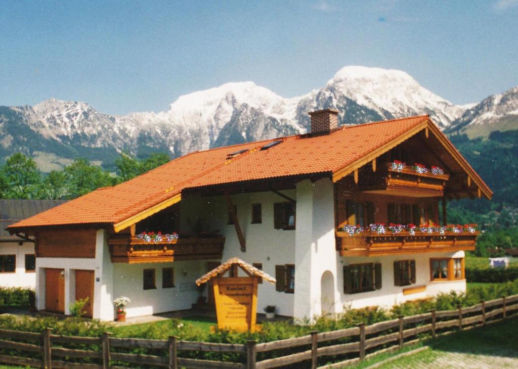
{"label": "shaded recessed white wall behind the wooden sign, left of white pillar", "polygon": [[[295,190],[283,190],[282,194],[293,199]],[[242,252],[234,225],[227,225],[227,202],[223,196],[186,198],[181,201],[182,228],[190,230],[188,220],[195,222],[196,215],[202,216],[210,225],[210,230],[219,230],[225,238],[223,259],[238,257],[250,264],[262,263],[263,271],[275,277],[275,265],[293,264],[295,261],[295,230],[274,228],[274,203],[286,199],[272,192],[232,195],[237,206],[239,224],[246,238],[247,249]],[[253,203],[261,203],[262,223],[251,223]],[[298,204],[297,204],[298,206]],[[206,209],[206,211],[200,211]],[[298,208],[296,227],[299,227]],[[205,264],[204,264],[205,265]],[[295,274],[296,268],[295,268]],[[279,292],[268,282],[260,284],[257,291],[257,312],[263,313],[266,305],[276,305],[277,314],[293,316],[294,294]]]}

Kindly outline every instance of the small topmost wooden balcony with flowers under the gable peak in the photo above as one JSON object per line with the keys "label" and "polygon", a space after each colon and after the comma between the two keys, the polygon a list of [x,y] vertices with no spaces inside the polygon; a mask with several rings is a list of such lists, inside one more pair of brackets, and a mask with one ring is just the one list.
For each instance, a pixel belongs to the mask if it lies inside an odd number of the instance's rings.
{"label": "small topmost wooden balcony with flowers under the gable peak", "polygon": [[408,197],[442,197],[449,178],[449,174],[417,173],[411,167],[398,172],[387,164],[383,180],[362,186],[361,191]]}

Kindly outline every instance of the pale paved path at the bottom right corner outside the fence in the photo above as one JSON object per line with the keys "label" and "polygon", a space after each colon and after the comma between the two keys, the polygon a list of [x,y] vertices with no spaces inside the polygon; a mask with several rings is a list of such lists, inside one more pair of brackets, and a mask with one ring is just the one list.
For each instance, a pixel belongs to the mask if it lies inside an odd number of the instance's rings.
{"label": "pale paved path at the bottom right corner outside the fence", "polygon": [[413,356],[386,363],[383,368],[518,368],[518,358],[480,355],[466,352],[427,350]]}

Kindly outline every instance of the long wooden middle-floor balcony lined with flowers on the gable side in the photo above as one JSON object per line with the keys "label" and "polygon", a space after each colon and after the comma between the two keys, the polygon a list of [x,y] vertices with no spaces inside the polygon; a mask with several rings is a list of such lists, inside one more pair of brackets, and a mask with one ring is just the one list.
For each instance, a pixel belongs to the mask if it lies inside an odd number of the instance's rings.
{"label": "long wooden middle-floor balcony lined with flowers on the gable side", "polygon": [[408,231],[385,234],[364,231],[353,237],[347,232],[337,231],[337,250],[340,256],[377,256],[390,254],[413,254],[426,252],[456,252],[475,249],[479,232],[421,233]]}

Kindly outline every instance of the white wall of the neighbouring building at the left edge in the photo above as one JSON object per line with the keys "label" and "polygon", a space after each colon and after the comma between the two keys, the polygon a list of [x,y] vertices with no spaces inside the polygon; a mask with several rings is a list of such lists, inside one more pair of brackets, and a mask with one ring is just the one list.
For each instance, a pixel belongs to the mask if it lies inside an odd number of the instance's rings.
{"label": "white wall of the neighbouring building at the left edge", "polygon": [[14,273],[0,273],[2,287],[30,287],[36,286],[36,273],[25,272],[25,255],[34,254],[34,243],[19,242],[0,243],[0,255],[16,255],[16,271]]}

